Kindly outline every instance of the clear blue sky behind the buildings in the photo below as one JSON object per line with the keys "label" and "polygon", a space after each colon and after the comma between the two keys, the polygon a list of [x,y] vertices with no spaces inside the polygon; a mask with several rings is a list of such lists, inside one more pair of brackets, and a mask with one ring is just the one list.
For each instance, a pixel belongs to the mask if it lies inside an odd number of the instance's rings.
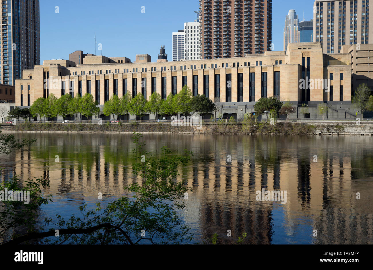
{"label": "clear blue sky behind the buildings", "polygon": [[[313,0],[273,0],[272,42],[283,50],[283,26],[289,9],[300,18],[313,18]],[[107,57],[150,54],[156,61],[165,45],[172,60],[172,32],[184,22],[196,19],[198,0],[40,0],[40,60],[68,59],[69,53],[82,50],[94,53],[94,35]],[[55,7],[59,7],[59,13]],[[141,13],[141,7],[145,13]],[[96,47],[97,49],[97,47]],[[96,50],[96,54],[100,54]]]}

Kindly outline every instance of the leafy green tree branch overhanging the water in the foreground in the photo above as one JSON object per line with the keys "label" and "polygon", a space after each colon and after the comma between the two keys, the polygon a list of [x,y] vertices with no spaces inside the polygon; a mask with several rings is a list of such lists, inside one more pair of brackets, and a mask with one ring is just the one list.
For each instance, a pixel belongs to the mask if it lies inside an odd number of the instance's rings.
{"label": "leafy green tree branch overhanging the water in the foreground", "polygon": [[[104,208],[97,202],[96,209],[88,210],[85,204],[79,207],[79,216],[72,215],[67,220],[60,215],[54,219],[46,218],[47,228],[52,228],[50,231],[36,232],[31,226],[25,234],[13,234],[3,244],[32,241],[40,244],[180,244],[191,241],[190,229],[178,215],[185,207],[184,196],[190,188],[176,178],[178,167],[186,165],[192,153],[185,150],[184,155],[177,156],[162,147],[161,156],[152,157],[151,153],[144,152],[141,137],[134,133],[136,147],[132,166],[140,184],[126,186],[125,196]],[[43,198],[40,193],[39,206],[45,200],[48,196]],[[19,211],[24,212],[23,209]],[[4,219],[12,219],[11,215],[4,215]],[[59,230],[59,237],[55,237],[55,230]]]}

